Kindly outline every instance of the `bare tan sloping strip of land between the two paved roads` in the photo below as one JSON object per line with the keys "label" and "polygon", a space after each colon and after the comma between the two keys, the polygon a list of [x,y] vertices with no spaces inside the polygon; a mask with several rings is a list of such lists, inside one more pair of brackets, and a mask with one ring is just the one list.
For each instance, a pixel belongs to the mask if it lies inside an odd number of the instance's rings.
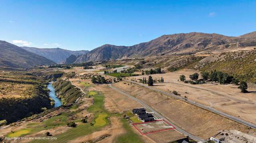
{"label": "bare tan sloping strip of land between the two paved roads", "polygon": [[203,139],[208,139],[219,131],[226,129],[237,129],[244,133],[256,135],[255,129],[249,129],[244,125],[187,104],[186,102],[173,98],[167,99],[158,92],[142,88],[137,84],[128,85],[128,82],[127,84],[118,82],[113,84],[113,86],[121,88],[132,96],[136,96],[138,99],[152,106],[157,112],[167,117],[173,124]]}

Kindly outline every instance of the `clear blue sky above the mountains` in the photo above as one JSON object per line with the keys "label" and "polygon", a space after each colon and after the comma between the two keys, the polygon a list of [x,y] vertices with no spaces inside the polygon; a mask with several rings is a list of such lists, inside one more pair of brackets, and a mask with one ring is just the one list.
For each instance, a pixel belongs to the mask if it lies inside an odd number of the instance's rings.
{"label": "clear blue sky above the mountains", "polygon": [[1,0],[0,40],[92,50],[164,34],[256,31],[255,0]]}

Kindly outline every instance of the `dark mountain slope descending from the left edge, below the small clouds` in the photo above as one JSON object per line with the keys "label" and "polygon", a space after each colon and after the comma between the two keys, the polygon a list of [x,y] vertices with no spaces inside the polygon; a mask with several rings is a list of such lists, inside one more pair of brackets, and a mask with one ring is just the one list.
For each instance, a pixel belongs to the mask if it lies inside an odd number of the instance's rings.
{"label": "dark mountain slope descending from the left edge, below the small clouds", "polygon": [[6,41],[0,41],[0,69],[25,69],[49,64],[54,62]]}

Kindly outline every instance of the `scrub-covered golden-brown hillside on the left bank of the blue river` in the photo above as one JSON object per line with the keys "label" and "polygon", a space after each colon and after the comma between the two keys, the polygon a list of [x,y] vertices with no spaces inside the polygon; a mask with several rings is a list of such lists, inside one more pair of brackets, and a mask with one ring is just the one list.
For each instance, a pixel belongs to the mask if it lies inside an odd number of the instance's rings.
{"label": "scrub-covered golden-brown hillside on the left bank of the blue river", "polygon": [[0,120],[8,123],[52,108],[44,77],[0,72]]}

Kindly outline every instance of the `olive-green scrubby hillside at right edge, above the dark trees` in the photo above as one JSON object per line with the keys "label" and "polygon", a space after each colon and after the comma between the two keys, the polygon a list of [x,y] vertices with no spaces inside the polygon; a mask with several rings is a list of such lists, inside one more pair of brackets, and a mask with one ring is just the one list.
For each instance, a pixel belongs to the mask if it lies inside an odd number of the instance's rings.
{"label": "olive-green scrubby hillside at right edge, above the dark trees", "polygon": [[200,63],[201,71],[222,71],[238,78],[256,83],[256,51],[236,51],[221,54],[215,62]]}

